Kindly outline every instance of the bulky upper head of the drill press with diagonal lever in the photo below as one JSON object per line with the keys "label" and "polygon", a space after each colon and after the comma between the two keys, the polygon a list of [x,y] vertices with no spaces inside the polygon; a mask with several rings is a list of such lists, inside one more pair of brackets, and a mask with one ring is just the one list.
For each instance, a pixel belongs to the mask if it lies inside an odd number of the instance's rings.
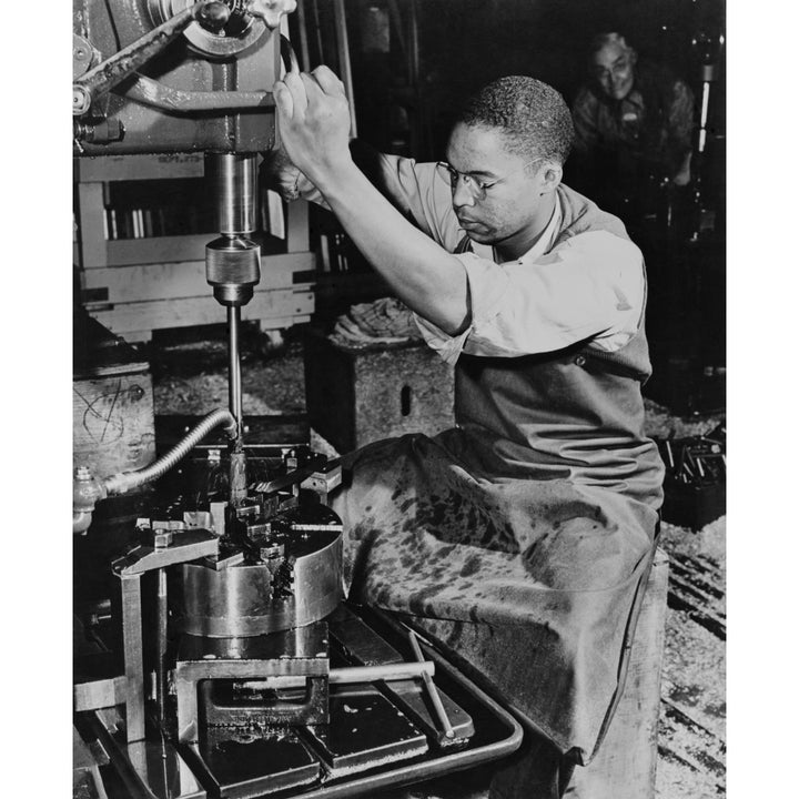
{"label": "bulky upper head of the drill press with diagonal lever", "polygon": [[[74,4],[73,110],[82,123],[75,128],[77,154],[264,152],[274,146],[270,90],[281,70],[279,38],[257,16],[242,12],[241,2],[199,4],[227,16],[224,36],[214,32],[213,14],[202,23],[192,20],[186,0]],[[199,36],[194,43],[175,30],[176,22],[186,21],[190,34]]]}

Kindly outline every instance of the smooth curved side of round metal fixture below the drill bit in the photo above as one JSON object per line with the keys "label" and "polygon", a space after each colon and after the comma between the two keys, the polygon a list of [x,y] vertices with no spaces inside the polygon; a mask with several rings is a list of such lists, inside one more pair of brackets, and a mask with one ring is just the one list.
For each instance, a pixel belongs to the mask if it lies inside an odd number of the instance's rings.
{"label": "smooth curved side of round metal fixture below the drill bit", "polygon": [[342,599],[340,532],[313,530],[286,542],[276,564],[204,563],[180,567],[181,627],[195,636],[259,636],[324,618]]}

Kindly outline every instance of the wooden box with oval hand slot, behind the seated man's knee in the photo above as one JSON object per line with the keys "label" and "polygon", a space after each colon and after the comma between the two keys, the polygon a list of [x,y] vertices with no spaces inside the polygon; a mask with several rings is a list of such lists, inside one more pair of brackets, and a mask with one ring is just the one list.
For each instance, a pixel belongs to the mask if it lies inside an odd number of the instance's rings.
{"label": "wooden box with oval hand slot, behind the seated man's knee", "polygon": [[419,343],[348,347],[311,331],[305,400],[311,426],[341,454],[455,424],[453,370]]}

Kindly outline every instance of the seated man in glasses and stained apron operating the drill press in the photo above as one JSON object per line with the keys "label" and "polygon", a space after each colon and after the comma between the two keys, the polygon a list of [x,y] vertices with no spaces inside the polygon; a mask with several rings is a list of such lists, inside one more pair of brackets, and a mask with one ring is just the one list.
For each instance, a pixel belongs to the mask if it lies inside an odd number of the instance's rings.
{"label": "seated man in glasses and stained apron operating the drill press", "polygon": [[350,142],[325,67],[274,94],[273,185],[325,203],[455,365],[457,427],[345,458],[350,595],[415,617],[540,732],[492,797],[562,796],[619,688],[661,502],[640,251],[562,184],[572,118],[538,80],[478,92],[437,164]]}

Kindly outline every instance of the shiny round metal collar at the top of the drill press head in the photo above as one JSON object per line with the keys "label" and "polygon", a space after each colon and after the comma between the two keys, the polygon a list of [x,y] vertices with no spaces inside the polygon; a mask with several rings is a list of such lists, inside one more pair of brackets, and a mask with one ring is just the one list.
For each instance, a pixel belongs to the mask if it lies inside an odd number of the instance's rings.
{"label": "shiny round metal collar at the top of the drill press head", "polygon": [[[193,0],[148,0],[150,17],[156,26],[193,4]],[[183,32],[194,50],[211,58],[235,55],[269,33],[262,19],[245,11],[244,0],[224,0],[224,4],[231,13],[220,32],[208,30],[199,22],[192,22]]]}

